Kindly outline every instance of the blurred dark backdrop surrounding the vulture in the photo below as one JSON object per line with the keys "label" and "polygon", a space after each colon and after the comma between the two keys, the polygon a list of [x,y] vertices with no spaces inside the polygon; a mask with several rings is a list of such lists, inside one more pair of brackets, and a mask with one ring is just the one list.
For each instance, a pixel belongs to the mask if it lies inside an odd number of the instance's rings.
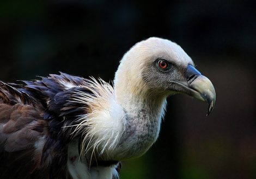
{"label": "blurred dark backdrop surrounding the vulture", "polygon": [[0,79],[62,71],[109,81],[150,36],[170,39],[215,86],[216,108],[168,99],[159,140],[121,178],[256,178],[253,1],[1,1]]}

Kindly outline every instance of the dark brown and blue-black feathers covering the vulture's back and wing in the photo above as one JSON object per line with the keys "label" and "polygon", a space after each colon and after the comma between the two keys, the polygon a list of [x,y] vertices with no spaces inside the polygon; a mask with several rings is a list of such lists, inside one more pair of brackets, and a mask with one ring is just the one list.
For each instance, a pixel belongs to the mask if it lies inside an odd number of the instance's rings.
{"label": "dark brown and blue-black feathers covering the vulture's back and wing", "polygon": [[[0,178],[70,178],[67,146],[84,106],[71,102],[86,79],[65,73],[25,85],[0,81]],[[87,92],[87,91],[86,91]],[[65,120],[64,120],[65,119]]]}

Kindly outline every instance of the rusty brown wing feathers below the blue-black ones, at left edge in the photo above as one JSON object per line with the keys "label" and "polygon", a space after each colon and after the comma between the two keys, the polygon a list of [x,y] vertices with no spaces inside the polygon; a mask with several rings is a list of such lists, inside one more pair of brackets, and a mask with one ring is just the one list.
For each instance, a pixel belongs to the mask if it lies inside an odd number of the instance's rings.
{"label": "rusty brown wing feathers below the blue-black ones, at left edge", "polygon": [[41,168],[35,146],[44,142],[47,122],[29,105],[0,104],[0,111],[0,178],[31,178]]}

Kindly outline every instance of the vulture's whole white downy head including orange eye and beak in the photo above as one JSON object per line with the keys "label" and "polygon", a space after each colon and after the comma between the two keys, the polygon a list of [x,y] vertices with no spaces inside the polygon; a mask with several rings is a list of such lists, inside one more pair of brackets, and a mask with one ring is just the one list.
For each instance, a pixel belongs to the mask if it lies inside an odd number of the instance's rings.
{"label": "vulture's whole white downy head including orange eye and beak", "polygon": [[176,93],[188,94],[208,103],[207,115],[216,99],[211,81],[194,67],[190,56],[178,44],[157,37],[136,43],[124,55],[114,87],[122,104],[128,95],[160,99]]}

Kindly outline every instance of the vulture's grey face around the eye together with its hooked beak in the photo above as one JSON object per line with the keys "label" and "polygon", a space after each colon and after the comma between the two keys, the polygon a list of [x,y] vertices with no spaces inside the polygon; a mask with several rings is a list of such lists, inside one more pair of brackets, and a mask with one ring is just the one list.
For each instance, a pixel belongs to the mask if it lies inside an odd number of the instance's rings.
{"label": "vulture's grey face around the eye together with its hooked beak", "polygon": [[214,86],[193,65],[188,63],[184,69],[182,66],[176,66],[172,60],[157,58],[149,69],[149,73],[144,72],[143,78],[153,91],[157,89],[158,93],[163,95],[188,94],[208,103],[207,115],[211,113],[216,100]]}

